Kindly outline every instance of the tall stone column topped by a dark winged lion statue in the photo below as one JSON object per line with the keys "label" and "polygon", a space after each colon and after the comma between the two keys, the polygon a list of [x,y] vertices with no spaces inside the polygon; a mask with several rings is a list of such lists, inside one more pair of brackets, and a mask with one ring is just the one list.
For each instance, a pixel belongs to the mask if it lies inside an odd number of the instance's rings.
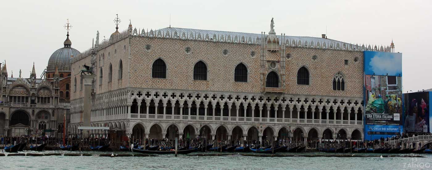
{"label": "tall stone column topped by a dark winged lion statue", "polygon": [[[90,117],[92,110],[92,80],[96,75],[81,75],[84,84],[84,102],[83,102],[83,126],[90,126]],[[83,130],[83,136],[88,136],[88,132]]]}

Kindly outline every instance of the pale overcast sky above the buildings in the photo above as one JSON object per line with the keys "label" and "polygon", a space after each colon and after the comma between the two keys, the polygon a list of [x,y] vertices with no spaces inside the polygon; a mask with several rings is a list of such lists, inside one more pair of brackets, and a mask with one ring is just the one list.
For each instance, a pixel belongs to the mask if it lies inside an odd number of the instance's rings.
{"label": "pale overcast sky above the buildings", "polygon": [[[51,54],[63,47],[69,19],[72,47],[87,50],[96,31],[100,40],[120,30],[129,19],[138,28],[210,29],[260,33],[270,31],[274,17],[276,34],[321,37],[353,44],[390,45],[403,53],[403,91],[432,88],[431,0],[196,0],[196,1],[22,1],[8,0],[0,6],[2,57],[9,75],[29,77],[32,63],[40,78]],[[427,52],[429,51],[429,52]]]}

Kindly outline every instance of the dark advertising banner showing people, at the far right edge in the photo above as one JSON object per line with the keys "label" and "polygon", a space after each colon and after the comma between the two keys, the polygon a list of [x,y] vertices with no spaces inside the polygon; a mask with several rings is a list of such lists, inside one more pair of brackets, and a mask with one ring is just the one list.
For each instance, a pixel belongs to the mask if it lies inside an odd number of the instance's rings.
{"label": "dark advertising banner showing people, at the far right edge", "polygon": [[403,94],[403,132],[431,132],[430,93],[426,91]]}

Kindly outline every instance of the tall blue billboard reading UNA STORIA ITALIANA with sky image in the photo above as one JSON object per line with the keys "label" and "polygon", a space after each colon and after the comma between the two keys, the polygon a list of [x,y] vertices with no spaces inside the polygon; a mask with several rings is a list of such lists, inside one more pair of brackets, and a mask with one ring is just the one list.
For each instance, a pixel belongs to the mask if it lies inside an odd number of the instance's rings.
{"label": "tall blue billboard reading UNA STORIA ITALIANA with sky image", "polygon": [[402,54],[364,51],[365,137],[402,131]]}

